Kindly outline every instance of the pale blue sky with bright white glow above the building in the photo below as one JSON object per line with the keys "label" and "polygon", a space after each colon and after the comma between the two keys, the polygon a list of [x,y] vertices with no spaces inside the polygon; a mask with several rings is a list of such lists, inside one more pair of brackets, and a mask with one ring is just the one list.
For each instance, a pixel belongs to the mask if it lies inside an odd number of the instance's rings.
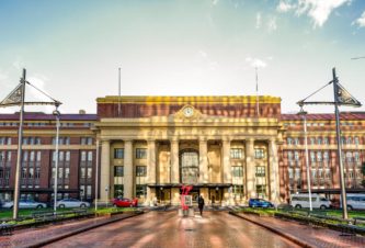
{"label": "pale blue sky with bright white glow above the building", "polygon": [[[118,94],[118,68],[122,95],[252,95],[258,71],[258,93],[296,113],[334,67],[365,104],[364,0],[0,0],[0,100],[26,68],[61,113],[95,113]],[[332,99],[328,86],[309,100]]]}

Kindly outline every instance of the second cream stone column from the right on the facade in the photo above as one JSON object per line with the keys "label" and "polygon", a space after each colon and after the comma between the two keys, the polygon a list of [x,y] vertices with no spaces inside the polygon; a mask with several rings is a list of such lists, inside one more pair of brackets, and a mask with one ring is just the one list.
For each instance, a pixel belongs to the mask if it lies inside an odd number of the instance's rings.
{"label": "second cream stone column from the right on the facade", "polygon": [[247,196],[255,198],[255,165],[254,165],[254,139],[249,138],[246,140],[246,181],[247,181]]}

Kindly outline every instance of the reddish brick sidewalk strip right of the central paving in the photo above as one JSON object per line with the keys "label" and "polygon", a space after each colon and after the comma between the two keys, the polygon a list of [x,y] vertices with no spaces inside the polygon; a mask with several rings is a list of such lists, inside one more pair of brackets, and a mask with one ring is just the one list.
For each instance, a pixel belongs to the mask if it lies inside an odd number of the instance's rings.
{"label": "reddish brick sidewalk strip right of the central paving", "polygon": [[332,229],[303,225],[295,221],[284,221],[275,217],[236,215],[283,234],[292,240],[296,239],[308,247],[365,247],[365,237],[363,236],[342,236],[340,232]]}

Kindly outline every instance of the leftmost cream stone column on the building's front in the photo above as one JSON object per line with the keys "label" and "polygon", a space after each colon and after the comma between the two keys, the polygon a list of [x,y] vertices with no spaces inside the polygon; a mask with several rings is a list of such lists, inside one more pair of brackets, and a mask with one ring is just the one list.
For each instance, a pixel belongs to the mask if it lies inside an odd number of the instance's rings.
{"label": "leftmost cream stone column on the building's front", "polygon": [[100,199],[109,202],[111,191],[111,142],[102,140],[101,169],[100,169]]}

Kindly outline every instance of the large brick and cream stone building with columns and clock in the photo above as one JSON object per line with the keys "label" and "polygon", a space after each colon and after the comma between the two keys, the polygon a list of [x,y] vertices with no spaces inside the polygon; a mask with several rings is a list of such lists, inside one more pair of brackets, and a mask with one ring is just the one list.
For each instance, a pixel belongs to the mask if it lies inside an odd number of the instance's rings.
{"label": "large brick and cream stone building with columns and clock", "polygon": [[[259,100],[259,104],[258,104]],[[260,196],[286,201],[307,190],[301,116],[281,113],[275,97],[105,97],[96,115],[61,116],[59,196],[139,198],[178,204],[183,184],[207,203]],[[18,114],[0,114],[0,192],[11,198]],[[334,116],[309,114],[312,189],[339,189]],[[365,114],[343,113],[347,188],[361,189]],[[49,201],[55,117],[25,115],[23,196]],[[9,143],[10,140],[10,143]],[[96,156],[96,151],[99,153]],[[96,164],[96,158],[99,162]]]}

